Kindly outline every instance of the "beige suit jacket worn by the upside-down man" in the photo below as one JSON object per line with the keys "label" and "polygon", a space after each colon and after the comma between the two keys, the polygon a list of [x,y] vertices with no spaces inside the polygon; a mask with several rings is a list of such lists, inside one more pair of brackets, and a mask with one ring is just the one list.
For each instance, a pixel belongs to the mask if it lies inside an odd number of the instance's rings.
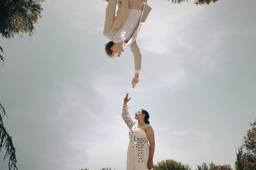
{"label": "beige suit jacket worn by the upside-down man", "polygon": [[[118,3],[118,10],[115,16],[116,3]],[[130,47],[134,57],[135,70],[141,70],[141,54],[140,49],[136,43],[136,38],[148,15],[150,14],[150,11],[152,10],[152,8],[146,3],[147,0],[109,0],[108,6],[106,8],[103,34],[112,41],[116,40],[116,38],[124,29],[129,16],[129,6],[137,6],[142,8],[140,23],[138,27],[134,31],[130,40],[123,45],[124,47]]]}

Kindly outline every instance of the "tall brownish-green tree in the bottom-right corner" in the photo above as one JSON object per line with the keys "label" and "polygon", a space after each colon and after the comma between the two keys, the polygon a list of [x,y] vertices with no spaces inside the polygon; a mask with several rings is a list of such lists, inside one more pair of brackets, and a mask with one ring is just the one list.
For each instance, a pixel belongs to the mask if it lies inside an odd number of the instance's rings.
{"label": "tall brownish-green tree in the bottom-right corner", "polygon": [[238,147],[238,152],[236,150],[236,170],[256,170],[256,119],[250,125],[251,129],[243,136],[243,144]]}

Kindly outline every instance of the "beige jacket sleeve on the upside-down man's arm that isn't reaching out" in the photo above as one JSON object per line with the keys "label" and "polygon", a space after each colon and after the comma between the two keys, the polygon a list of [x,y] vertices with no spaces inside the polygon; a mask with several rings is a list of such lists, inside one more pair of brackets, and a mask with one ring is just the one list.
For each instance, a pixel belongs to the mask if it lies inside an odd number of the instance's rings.
{"label": "beige jacket sleeve on the upside-down man's arm that isn't reaching out", "polygon": [[115,9],[117,0],[109,0],[108,6],[106,8],[105,24],[103,34],[106,35],[112,28],[115,19]]}

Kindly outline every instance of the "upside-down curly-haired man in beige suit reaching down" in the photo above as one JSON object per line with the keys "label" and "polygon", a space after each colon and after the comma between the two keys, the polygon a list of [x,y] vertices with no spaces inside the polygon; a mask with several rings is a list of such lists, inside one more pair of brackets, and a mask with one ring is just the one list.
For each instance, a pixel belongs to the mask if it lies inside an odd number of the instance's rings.
{"label": "upside-down curly-haired man in beige suit reaching down", "polygon": [[[115,16],[116,3],[118,10]],[[123,53],[123,47],[130,47],[134,57],[135,76],[132,88],[138,83],[141,70],[141,54],[136,38],[145,23],[151,7],[147,0],[109,0],[103,34],[111,41],[105,44],[106,56],[114,59]]]}

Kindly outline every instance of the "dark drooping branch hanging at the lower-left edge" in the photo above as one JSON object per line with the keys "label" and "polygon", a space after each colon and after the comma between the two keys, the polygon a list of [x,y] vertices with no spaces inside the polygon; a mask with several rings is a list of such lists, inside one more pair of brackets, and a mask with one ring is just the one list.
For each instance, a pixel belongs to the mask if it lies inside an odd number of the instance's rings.
{"label": "dark drooping branch hanging at the lower-left edge", "polygon": [[[6,132],[6,129],[4,127],[4,123],[3,123],[3,116],[6,116],[5,114],[5,110],[4,107],[2,106],[2,104],[0,103],[0,110],[2,113],[0,113],[0,152],[2,151],[2,148],[5,146],[6,152],[4,155],[4,160],[5,158],[7,158],[9,156],[9,170],[10,169],[18,169],[16,166],[17,160],[16,160],[16,155],[15,155],[15,148],[13,146],[13,142],[12,142],[12,137],[9,136],[9,134]],[[7,117],[7,116],[6,116]],[[8,119],[8,117],[7,117]]]}

